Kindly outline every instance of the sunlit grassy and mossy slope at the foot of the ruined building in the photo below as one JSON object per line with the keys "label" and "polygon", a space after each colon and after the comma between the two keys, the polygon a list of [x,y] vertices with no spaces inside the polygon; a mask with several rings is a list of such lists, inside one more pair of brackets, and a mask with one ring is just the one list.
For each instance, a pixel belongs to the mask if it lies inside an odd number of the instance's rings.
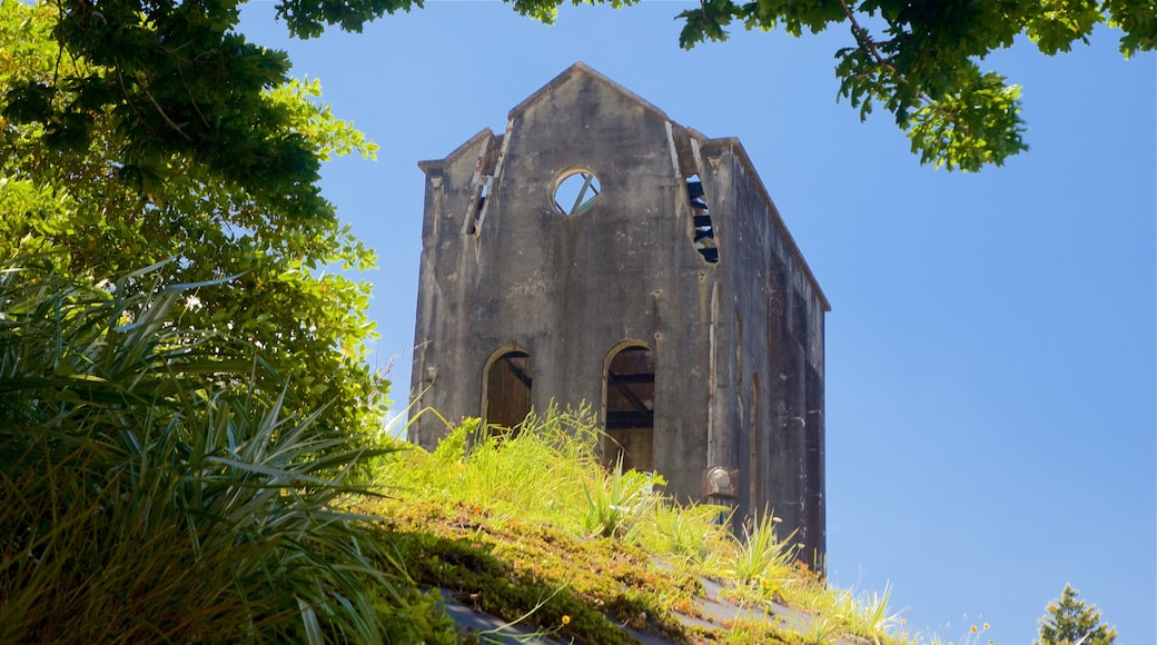
{"label": "sunlit grassy and mossy slope at the foot of the ruined building", "polygon": [[[805,632],[892,642],[887,595],[828,590],[794,559],[768,514],[744,540],[727,509],[684,506],[662,480],[607,473],[587,410],[551,408],[516,431],[454,429],[433,453],[411,447],[382,459],[377,489],[356,509],[419,583],[545,632],[590,643],[631,643],[619,625],[676,642],[803,643]],[[467,446],[471,446],[467,453]],[[801,625],[739,618],[703,629],[703,579],[740,606],[787,605]]]}

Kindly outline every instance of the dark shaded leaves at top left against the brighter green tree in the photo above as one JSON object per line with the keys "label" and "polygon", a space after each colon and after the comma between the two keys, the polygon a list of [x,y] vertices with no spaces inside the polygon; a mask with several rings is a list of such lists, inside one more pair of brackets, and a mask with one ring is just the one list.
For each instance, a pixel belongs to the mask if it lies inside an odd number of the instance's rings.
{"label": "dark shaded leaves at top left against the brighter green tree", "polygon": [[[91,131],[76,126],[109,110],[124,135],[118,154],[134,166],[124,176],[138,190],[150,192],[159,157],[183,154],[255,199],[324,207],[314,190],[319,160],[263,94],[287,80],[288,58],[233,31],[236,1],[120,0],[97,10],[68,0],[62,8],[53,29],[61,53],[101,72],[67,77],[73,91],[39,119],[50,132],[90,143]],[[62,95],[61,82],[54,86]]]}

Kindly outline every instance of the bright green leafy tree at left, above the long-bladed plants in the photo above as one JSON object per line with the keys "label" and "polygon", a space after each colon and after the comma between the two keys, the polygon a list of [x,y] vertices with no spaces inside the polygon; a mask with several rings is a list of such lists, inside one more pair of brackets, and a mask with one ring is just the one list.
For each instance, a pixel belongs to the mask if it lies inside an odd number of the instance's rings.
{"label": "bright green leafy tree at left, above the long-bladed plants", "polygon": [[[116,20],[117,6],[102,3],[102,12]],[[0,3],[0,258],[39,254],[59,275],[94,286],[157,265],[119,283],[131,291],[221,281],[187,291],[171,310],[174,324],[206,333],[209,343],[245,339],[272,368],[257,372],[259,390],[272,398],[290,384],[289,410],[323,409],[315,428],[355,436],[376,429],[388,384],[366,362],[370,286],[338,270],[369,268],[375,258],[339,225],[316,185],[322,161],[373,156],[376,147],[318,102],[317,81],[282,82],[255,61],[249,79],[237,81],[251,95],[216,109],[245,113],[259,127],[209,136],[248,157],[236,163],[260,170],[222,166],[185,141],[185,131],[153,140],[140,129],[148,117],[135,111],[135,95],[97,101],[128,88],[120,81],[127,71],[61,50],[52,37],[54,28],[67,31],[60,21],[54,5]],[[237,49],[239,60],[246,51]],[[198,58],[196,50],[179,55]],[[148,73],[182,80],[163,64]],[[257,76],[270,82],[246,84]],[[214,102],[211,90],[205,95]],[[287,146],[296,147],[297,162],[285,157]]]}

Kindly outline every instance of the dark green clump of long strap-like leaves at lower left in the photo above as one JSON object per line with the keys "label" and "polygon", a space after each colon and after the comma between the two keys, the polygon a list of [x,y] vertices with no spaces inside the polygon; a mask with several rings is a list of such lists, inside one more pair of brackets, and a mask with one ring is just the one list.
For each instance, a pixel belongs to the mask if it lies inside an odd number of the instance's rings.
{"label": "dark green clump of long strap-like leaves at lower left", "polygon": [[338,510],[375,453],[248,387],[265,368],[242,343],[174,325],[180,288],[126,296],[25,260],[0,267],[0,642],[449,629]]}

